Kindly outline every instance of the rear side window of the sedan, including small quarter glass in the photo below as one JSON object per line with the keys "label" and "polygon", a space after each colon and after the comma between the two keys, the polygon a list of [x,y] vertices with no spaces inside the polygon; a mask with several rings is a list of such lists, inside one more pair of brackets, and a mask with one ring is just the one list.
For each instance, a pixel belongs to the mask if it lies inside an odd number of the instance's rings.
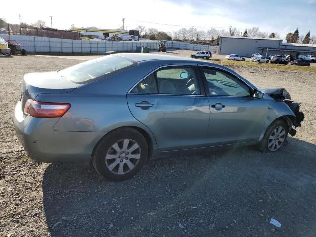
{"label": "rear side window of the sedan, including small quarter glass", "polygon": [[193,67],[167,67],[138,83],[131,93],[199,95],[197,74]]}

